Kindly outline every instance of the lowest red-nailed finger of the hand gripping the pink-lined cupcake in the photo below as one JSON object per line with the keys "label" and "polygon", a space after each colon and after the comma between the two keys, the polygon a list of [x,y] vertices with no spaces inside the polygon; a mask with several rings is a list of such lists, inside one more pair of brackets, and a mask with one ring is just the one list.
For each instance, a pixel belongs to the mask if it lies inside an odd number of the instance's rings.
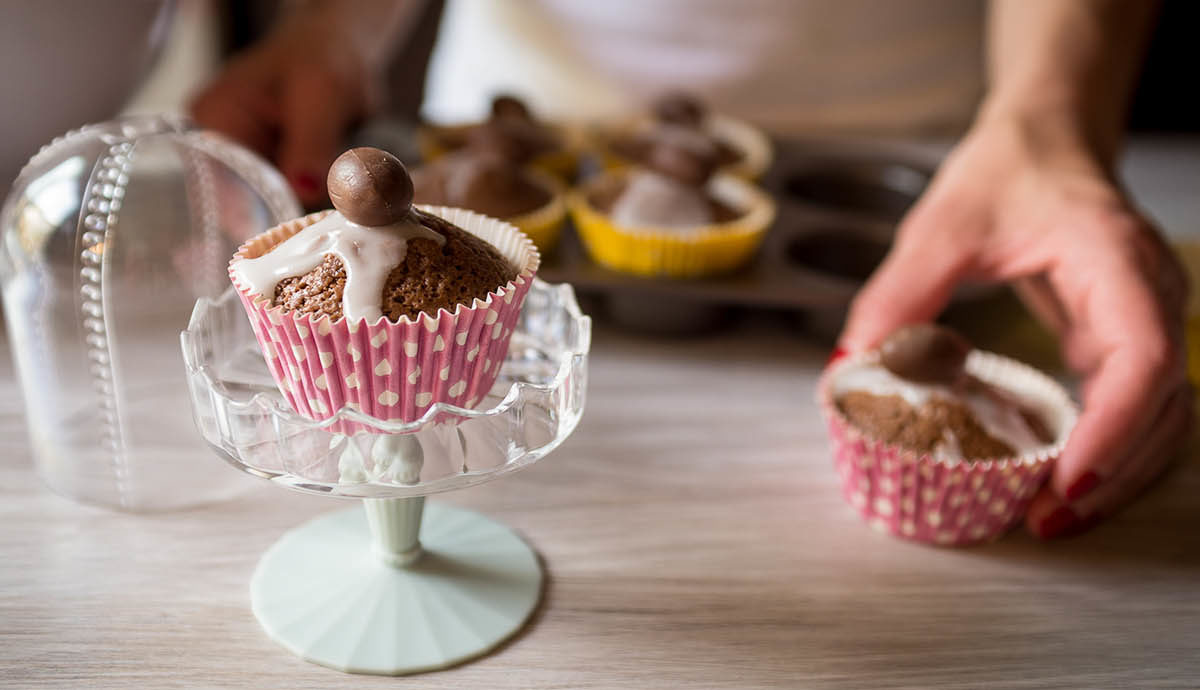
{"label": "lowest red-nailed finger of the hand gripping the pink-lined cupcake", "polygon": [[1033,498],[1026,511],[1026,528],[1042,539],[1068,536],[1090,529],[1102,517],[1112,515],[1145,488],[1170,464],[1194,426],[1193,391],[1183,386],[1168,401],[1159,425],[1133,457],[1093,493],[1067,503],[1049,486]]}

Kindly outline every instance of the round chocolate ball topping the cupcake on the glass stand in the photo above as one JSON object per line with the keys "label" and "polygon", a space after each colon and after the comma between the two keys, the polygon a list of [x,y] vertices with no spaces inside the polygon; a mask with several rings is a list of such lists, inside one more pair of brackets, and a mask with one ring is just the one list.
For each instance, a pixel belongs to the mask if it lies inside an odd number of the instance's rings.
{"label": "round chocolate ball topping the cupcake on the glass stand", "polygon": [[388,151],[350,149],[329,168],[329,198],[347,220],[360,226],[389,226],[413,208],[413,179]]}

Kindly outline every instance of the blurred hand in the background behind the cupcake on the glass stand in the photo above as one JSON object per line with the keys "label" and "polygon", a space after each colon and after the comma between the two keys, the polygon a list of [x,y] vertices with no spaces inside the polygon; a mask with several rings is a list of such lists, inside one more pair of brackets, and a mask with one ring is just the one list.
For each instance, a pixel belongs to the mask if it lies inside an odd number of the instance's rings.
{"label": "blurred hand in the background behind the cupcake on the glass stand", "polygon": [[379,65],[336,5],[292,17],[235,58],[192,101],[196,121],[268,157],[308,208],[350,126],[373,108]]}

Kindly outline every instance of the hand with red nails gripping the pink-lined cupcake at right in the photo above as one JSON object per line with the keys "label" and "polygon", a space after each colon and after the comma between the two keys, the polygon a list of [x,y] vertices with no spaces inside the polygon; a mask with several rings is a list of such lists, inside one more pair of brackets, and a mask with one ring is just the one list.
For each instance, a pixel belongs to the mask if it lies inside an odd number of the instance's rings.
{"label": "hand with red nails gripping the pink-lined cupcake at right", "polygon": [[1039,122],[980,120],[900,224],[851,307],[858,352],[929,320],[965,278],[1014,282],[1084,377],[1084,410],[1026,526],[1090,528],[1168,466],[1192,426],[1187,280],[1098,157]]}

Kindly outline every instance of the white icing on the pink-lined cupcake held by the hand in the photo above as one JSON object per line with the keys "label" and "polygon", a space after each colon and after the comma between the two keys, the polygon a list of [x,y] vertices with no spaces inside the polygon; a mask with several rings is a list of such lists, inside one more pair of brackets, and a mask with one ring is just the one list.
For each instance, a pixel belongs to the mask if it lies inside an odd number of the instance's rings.
{"label": "white icing on the pink-lined cupcake held by the hand", "polygon": [[[914,408],[922,407],[931,397],[960,401],[966,404],[990,436],[1010,445],[1018,455],[1032,452],[1046,445],[1030,428],[1014,401],[1004,398],[989,388],[980,386],[959,391],[944,385],[918,384],[895,376],[882,365],[871,362],[846,367],[838,373],[832,388],[835,400],[851,391],[877,396],[895,395]],[[946,436],[934,450],[934,455],[943,460],[962,458],[962,451],[953,432],[946,431]]]}

